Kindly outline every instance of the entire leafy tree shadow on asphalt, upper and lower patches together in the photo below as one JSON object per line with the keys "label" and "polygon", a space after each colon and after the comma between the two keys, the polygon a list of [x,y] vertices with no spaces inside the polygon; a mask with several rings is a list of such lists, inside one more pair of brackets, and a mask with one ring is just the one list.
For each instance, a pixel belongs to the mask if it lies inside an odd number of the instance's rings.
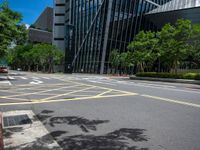
{"label": "entire leafy tree shadow on asphalt, upper and lower patches together", "polygon": [[[145,129],[120,128],[103,135],[95,135],[98,125],[109,123],[109,120],[91,120],[80,116],[55,116],[53,111],[42,111],[38,117],[45,124],[56,129],[57,125],[79,127],[82,133],[73,135],[70,131],[57,130],[50,135],[65,150],[148,150],[149,138]],[[143,146],[141,146],[143,145]]]}

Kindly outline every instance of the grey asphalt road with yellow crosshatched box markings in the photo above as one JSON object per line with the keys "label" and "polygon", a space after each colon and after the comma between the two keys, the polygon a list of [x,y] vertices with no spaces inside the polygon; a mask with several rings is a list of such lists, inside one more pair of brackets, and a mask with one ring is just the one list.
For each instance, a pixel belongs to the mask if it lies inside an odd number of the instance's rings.
{"label": "grey asphalt road with yellow crosshatched box markings", "polygon": [[0,111],[32,110],[63,149],[200,149],[198,85],[24,72],[9,81]]}

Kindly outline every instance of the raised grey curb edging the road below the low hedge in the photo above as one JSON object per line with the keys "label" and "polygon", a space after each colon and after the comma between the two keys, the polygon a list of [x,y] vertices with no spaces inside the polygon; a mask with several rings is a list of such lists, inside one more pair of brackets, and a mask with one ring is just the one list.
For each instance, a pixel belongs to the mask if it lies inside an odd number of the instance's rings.
{"label": "raised grey curb edging the road below the low hedge", "polygon": [[150,77],[130,77],[131,80],[147,80],[147,81],[159,81],[159,82],[171,82],[171,83],[185,83],[185,84],[198,84],[198,80],[185,80],[185,79],[170,79],[170,78],[150,78]]}

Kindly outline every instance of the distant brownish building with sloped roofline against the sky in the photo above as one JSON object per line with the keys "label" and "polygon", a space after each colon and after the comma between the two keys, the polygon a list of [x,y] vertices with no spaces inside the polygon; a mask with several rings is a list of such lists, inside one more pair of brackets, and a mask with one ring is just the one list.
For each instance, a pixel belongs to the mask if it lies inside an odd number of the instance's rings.
{"label": "distant brownish building with sloped roofline against the sky", "polygon": [[52,43],[53,8],[47,7],[29,27],[29,42]]}

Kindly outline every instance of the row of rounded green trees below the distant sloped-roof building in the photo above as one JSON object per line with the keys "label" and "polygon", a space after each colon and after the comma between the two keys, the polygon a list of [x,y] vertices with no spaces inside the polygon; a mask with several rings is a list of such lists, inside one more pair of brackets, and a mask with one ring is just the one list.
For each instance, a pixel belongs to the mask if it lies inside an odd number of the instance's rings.
{"label": "row of rounded green trees below the distant sloped-roof building", "polygon": [[62,64],[63,53],[50,44],[16,46],[9,50],[9,64],[23,70],[54,72],[53,66]]}

